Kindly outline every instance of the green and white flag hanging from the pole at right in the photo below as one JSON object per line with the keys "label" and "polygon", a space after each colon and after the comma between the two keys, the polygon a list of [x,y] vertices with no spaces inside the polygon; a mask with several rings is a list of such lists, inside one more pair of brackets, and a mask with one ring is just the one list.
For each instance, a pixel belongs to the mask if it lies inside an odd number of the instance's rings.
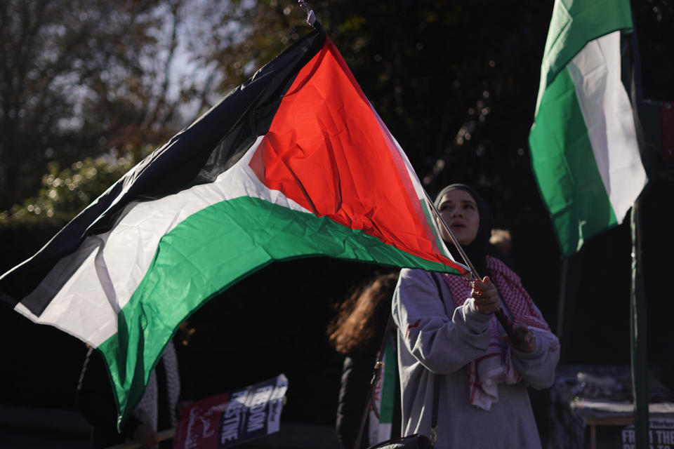
{"label": "green and white flag hanging from the pole at right", "polygon": [[555,1],[529,146],[565,256],[619,225],[647,182],[621,81],[631,29],[628,0]]}

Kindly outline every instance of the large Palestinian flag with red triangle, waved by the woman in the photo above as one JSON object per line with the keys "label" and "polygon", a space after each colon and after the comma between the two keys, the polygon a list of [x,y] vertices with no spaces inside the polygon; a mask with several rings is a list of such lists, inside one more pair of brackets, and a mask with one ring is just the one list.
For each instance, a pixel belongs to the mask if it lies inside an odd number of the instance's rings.
{"label": "large Palestinian flag with red triangle, waved by the woman", "polygon": [[97,347],[120,419],[180,323],[275,260],[452,272],[407,156],[317,29],[154,151],[0,278]]}

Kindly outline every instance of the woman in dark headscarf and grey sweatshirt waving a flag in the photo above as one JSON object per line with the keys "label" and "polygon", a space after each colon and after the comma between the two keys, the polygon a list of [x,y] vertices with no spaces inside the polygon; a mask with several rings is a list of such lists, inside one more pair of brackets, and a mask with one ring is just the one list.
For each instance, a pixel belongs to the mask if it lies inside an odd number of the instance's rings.
{"label": "woman in dark headscarf and grey sweatshirt waving a flag", "polygon": [[[540,448],[527,387],[550,387],[559,340],[520,278],[489,244],[491,210],[467,185],[445,187],[435,206],[481,281],[403,269],[392,311],[398,328],[402,433],[435,438],[435,449]],[[449,233],[443,239],[461,261]],[[494,312],[520,337],[513,344]],[[435,411],[434,411],[435,410]]]}

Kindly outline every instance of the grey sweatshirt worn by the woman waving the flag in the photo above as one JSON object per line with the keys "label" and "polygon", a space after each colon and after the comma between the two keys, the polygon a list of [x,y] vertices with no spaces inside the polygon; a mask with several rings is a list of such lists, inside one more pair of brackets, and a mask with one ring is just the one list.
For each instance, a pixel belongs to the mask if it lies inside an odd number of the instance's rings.
{"label": "grey sweatshirt worn by the woman waving the flag", "polygon": [[487,351],[492,316],[477,311],[472,299],[455,307],[440,276],[419,269],[400,272],[392,311],[398,327],[403,435],[429,435],[433,386],[440,382],[435,449],[541,448],[527,387],[543,389],[555,380],[560,351],[553,334],[531,328],[536,349],[524,353],[511,348],[522,380],[499,384],[498,401],[483,410],[470,404],[467,364]]}

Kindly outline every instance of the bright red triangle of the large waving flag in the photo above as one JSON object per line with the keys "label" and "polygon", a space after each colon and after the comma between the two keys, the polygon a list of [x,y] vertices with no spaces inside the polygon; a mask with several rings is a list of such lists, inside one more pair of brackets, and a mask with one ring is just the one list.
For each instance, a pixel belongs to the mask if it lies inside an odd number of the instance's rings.
{"label": "bright red triangle of the large waving flag", "polygon": [[266,187],[319,217],[451,264],[388,130],[329,39],[298,73],[250,166]]}

